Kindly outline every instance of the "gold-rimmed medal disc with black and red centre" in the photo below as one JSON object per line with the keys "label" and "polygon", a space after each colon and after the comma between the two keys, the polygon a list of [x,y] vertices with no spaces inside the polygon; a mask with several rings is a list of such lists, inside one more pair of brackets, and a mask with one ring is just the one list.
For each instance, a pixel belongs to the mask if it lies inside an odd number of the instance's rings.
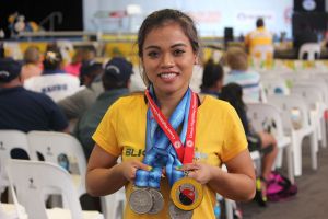
{"label": "gold-rimmed medal disc with black and red centre", "polygon": [[203,188],[197,181],[183,177],[173,184],[169,195],[179,209],[194,210],[202,201]]}

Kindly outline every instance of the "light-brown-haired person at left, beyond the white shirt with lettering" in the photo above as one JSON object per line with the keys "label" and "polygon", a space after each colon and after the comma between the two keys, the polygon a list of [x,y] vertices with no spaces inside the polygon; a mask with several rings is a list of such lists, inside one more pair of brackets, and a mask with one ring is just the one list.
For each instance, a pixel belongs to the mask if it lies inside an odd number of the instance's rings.
{"label": "light-brown-haired person at left, beyond the white shirt with lettering", "polygon": [[24,53],[24,65],[22,67],[22,80],[40,76],[43,72],[42,54],[37,46],[28,46]]}

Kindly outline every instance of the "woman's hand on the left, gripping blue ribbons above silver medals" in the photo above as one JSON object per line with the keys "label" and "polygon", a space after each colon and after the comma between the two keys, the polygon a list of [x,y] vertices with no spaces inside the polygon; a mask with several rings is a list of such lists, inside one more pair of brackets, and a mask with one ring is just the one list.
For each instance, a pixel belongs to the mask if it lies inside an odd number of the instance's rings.
{"label": "woman's hand on the left, gripping blue ribbons above silver medals", "polygon": [[119,169],[120,169],[124,177],[127,178],[128,181],[132,182],[136,178],[137,170],[141,169],[144,171],[151,171],[152,166],[147,165],[139,160],[129,160],[129,161],[124,161],[122,163],[120,163]]}

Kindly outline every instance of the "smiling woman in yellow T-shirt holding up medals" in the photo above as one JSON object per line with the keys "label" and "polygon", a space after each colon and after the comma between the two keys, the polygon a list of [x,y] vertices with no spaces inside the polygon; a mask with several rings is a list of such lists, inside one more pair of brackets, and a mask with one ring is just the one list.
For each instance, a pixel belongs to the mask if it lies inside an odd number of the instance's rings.
{"label": "smiling woman in yellow T-shirt holding up medals", "polygon": [[[255,171],[237,114],[214,97],[197,99],[189,89],[199,51],[192,20],[171,9],[153,12],[139,30],[138,47],[148,90],[119,99],[101,122],[93,135],[96,143],[87,165],[87,192],[102,196],[126,186],[126,218],[162,219],[191,212],[192,218],[208,219],[214,218],[215,193],[251,199]],[[176,132],[179,139],[173,141]],[[187,147],[181,147],[185,141]],[[117,163],[120,155],[122,162]],[[221,170],[223,163],[229,173]],[[173,189],[186,178],[192,183],[190,189],[183,185]],[[150,192],[157,196],[149,199]],[[179,200],[184,199],[185,210],[179,211],[175,192]],[[163,208],[161,203],[148,205],[147,200],[157,201],[161,195]]]}

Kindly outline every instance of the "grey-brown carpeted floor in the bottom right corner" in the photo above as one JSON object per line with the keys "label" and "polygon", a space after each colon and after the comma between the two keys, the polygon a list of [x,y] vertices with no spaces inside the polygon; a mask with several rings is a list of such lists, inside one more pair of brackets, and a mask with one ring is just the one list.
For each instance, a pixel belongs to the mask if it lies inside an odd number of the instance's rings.
{"label": "grey-brown carpeted floor in the bottom right corner", "polygon": [[[319,147],[318,170],[311,168],[308,140],[303,142],[303,174],[296,177],[296,197],[259,207],[241,204],[245,219],[328,219],[328,148]],[[285,172],[283,166],[282,172]]]}

